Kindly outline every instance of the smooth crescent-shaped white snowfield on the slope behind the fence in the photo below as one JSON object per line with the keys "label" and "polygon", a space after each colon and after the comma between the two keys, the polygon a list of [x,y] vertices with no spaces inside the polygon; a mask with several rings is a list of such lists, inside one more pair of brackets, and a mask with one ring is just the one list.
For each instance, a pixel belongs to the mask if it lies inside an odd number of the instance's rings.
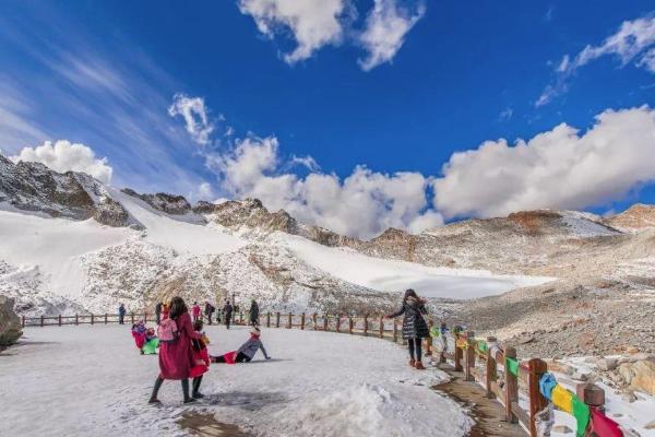
{"label": "smooth crescent-shaped white snowfield on the slope behind the fence", "polygon": [[287,246],[298,258],[317,269],[353,284],[384,292],[415,288],[426,297],[472,299],[552,280],[372,258],[350,249],[326,247],[286,235],[277,235],[277,239],[281,245]]}

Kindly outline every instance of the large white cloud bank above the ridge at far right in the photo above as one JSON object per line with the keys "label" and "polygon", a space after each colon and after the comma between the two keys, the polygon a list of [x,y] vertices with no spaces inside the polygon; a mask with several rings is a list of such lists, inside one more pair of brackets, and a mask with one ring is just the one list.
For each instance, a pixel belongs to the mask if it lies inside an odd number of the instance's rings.
{"label": "large white cloud bank above the ridge at far right", "polygon": [[606,110],[583,134],[562,123],[513,146],[487,141],[453,154],[433,181],[434,206],[448,217],[584,209],[655,180],[652,156],[655,110]]}

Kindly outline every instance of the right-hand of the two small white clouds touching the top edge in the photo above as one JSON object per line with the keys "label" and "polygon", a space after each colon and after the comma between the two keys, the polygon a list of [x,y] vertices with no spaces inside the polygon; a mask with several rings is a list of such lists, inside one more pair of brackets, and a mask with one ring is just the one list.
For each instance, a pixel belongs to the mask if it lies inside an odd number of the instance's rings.
{"label": "right-hand of the two small white clouds touching the top edge", "polygon": [[369,71],[381,63],[391,62],[405,43],[405,35],[426,12],[421,1],[416,11],[397,4],[397,0],[376,0],[366,20],[366,29],[359,44],[368,51],[359,59],[362,70]]}

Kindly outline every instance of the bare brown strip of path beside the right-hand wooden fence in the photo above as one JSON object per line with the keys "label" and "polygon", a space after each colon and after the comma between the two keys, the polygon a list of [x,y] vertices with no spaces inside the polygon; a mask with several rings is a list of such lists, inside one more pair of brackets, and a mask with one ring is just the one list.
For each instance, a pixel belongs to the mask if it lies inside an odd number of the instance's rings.
{"label": "bare brown strip of path beside the right-hand wooden fence", "polygon": [[487,399],[477,382],[464,380],[464,374],[450,366],[441,367],[451,380],[434,387],[461,403],[475,421],[469,437],[525,437],[526,433],[516,424],[504,422],[504,408],[493,399]]}

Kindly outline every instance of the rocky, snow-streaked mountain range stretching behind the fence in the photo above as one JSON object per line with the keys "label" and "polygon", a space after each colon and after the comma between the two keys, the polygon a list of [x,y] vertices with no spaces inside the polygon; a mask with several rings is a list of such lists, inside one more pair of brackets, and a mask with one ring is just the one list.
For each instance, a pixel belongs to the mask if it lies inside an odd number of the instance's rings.
{"label": "rocky, snow-streaked mountain range stretching behind the fence", "polygon": [[364,241],[257,199],[191,205],[0,156],[0,294],[27,315],[105,312],[119,302],[143,310],[177,294],[255,298],[271,311],[380,314],[407,287],[474,298],[571,276],[581,253],[587,262],[608,247],[623,260],[650,256],[631,249],[634,238],[643,236],[593,214],[544,210]]}

